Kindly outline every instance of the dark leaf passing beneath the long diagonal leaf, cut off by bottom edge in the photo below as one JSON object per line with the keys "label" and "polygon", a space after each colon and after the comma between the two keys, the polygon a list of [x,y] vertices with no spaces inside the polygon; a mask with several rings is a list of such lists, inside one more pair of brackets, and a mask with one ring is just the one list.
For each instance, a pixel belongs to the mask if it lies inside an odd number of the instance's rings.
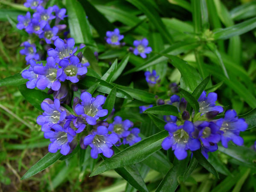
{"label": "dark leaf passing beneath the long diagonal leaf, cut off by bottom edge", "polygon": [[[119,151],[119,149],[117,149],[116,147],[114,147],[114,149],[115,151]],[[100,154],[100,156],[105,161],[108,160],[108,158],[103,156],[102,154]],[[130,183],[130,185],[133,186],[134,188],[138,189],[139,191],[148,192],[146,184],[143,178],[141,177],[140,172],[138,171],[136,166],[130,165],[125,167],[120,167],[120,168],[116,168],[115,171],[120,176],[122,176],[125,180],[127,180],[128,183]]]}

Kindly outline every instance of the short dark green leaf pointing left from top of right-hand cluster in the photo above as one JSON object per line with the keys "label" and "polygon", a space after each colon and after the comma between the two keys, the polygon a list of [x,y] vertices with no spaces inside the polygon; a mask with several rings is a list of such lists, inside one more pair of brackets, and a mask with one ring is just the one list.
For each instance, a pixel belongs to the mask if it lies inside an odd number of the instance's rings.
{"label": "short dark green leaf pointing left from top of right-hand cluster", "polygon": [[173,105],[159,105],[151,107],[146,109],[143,113],[152,113],[156,115],[179,115],[178,109]]}

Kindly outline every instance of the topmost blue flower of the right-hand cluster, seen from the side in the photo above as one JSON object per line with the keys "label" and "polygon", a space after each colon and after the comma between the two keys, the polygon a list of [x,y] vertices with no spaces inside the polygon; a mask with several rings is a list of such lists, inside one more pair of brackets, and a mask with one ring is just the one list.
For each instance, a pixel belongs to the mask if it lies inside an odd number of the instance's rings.
{"label": "topmost blue flower of the right-hand cluster, seen from the side", "polygon": [[206,96],[206,92],[203,91],[201,96],[198,99],[199,103],[199,111],[201,115],[207,113],[209,111],[218,111],[219,113],[223,112],[223,108],[221,106],[215,106],[215,102],[217,101],[217,93],[209,93]]}

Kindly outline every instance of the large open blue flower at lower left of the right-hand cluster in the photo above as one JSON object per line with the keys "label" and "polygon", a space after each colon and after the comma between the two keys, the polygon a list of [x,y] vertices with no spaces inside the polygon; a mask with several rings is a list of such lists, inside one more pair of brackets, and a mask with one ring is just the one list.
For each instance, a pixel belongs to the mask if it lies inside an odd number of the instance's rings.
{"label": "large open blue flower at lower left of the right-hand cluster", "polygon": [[195,127],[192,122],[185,121],[184,125],[177,126],[175,123],[167,123],[165,130],[169,132],[169,136],[162,142],[164,150],[172,147],[174,154],[178,160],[187,157],[187,150],[196,151],[200,148],[200,141],[192,137]]}

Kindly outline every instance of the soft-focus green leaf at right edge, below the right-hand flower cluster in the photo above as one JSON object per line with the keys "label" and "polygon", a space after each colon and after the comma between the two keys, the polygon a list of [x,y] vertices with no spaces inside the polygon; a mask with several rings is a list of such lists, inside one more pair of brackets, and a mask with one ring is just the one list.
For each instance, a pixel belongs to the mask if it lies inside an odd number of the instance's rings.
{"label": "soft-focus green leaf at right edge, below the right-hand flower cluster", "polygon": [[252,168],[256,167],[256,151],[251,148],[229,145],[228,148],[219,146],[218,150],[236,160],[239,160],[244,166]]}

